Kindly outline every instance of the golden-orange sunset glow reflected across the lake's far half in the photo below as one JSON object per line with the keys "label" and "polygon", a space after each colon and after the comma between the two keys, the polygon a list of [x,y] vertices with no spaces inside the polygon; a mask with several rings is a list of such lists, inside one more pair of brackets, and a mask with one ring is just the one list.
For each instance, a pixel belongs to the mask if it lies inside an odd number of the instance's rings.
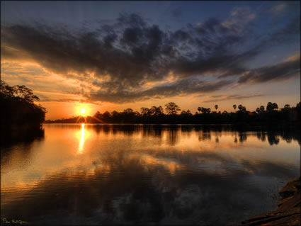
{"label": "golden-orange sunset glow reflected across the lake's far half", "polygon": [[[161,131],[160,136],[151,133],[145,137],[142,136],[142,131],[129,135],[123,130],[113,132],[113,127],[108,131],[103,129],[98,131],[96,128],[100,127],[87,124],[45,125],[46,139],[40,145],[31,146],[31,152],[25,157],[22,153],[28,149],[27,146],[14,147],[10,162],[1,165],[1,188],[25,189],[25,186],[34,186],[46,174],[56,174],[57,171],[65,169],[77,169],[79,165],[94,170],[96,165],[92,164],[91,167],[92,162],[98,161],[98,158],[113,161],[118,159],[118,153],[124,153],[125,149],[132,154],[128,155],[128,160],[139,157],[147,168],[161,165],[169,170],[171,175],[186,170],[185,162],[178,161],[177,157],[194,159],[196,152],[201,155],[195,159],[201,163],[200,167],[214,168],[208,170],[216,170],[215,167],[223,166],[223,159],[232,159],[239,163],[247,159],[249,163],[261,160],[300,166],[300,145],[297,140],[292,140],[290,143],[280,140],[278,145],[271,146],[268,140],[264,142],[259,140],[254,132],[249,133],[245,142],[239,142],[239,133],[222,131],[221,135],[218,135],[220,142],[217,143],[215,132],[181,132],[180,130],[176,132],[175,138],[171,139],[168,130]],[[200,139],[206,137],[205,135],[207,135],[206,139]],[[237,142],[234,142],[235,136]],[[129,145],[129,137],[132,138],[131,144],[135,143],[135,145]],[[110,144],[114,144],[114,149]],[[35,157],[33,154],[36,150],[39,150],[39,154]],[[164,158],[162,154],[170,155],[172,158]],[[215,158],[219,154],[222,158]],[[110,171],[111,166],[107,165],[108,163],[98,164],[97,161],[97,169],[101,169],[103,173]],[[35,174],[28,162],[36,169]],[[94,171],[91,171],[91,174],[94,174]]]}

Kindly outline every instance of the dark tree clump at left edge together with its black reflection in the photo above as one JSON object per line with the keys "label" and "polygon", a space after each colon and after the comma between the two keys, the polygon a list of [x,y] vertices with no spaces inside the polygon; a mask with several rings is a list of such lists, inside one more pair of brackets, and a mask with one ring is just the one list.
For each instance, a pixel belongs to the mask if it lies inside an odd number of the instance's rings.
{"label": "dark tree clump at left edge together with its black reflection", "polygon": [[39,97],[26,86],[0,81],[0,144],[27,142],[44,136],[45,108],[34,103]]}

